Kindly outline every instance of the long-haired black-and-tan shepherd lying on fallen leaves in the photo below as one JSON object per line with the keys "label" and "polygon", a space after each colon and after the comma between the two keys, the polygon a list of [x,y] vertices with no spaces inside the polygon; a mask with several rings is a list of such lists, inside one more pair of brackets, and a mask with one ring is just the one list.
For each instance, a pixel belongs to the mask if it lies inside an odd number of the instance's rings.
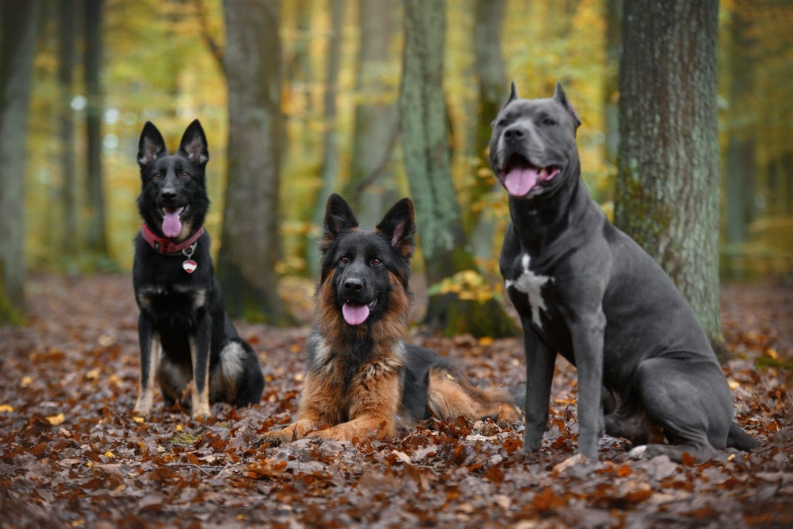
{"label": "long-haired black-and-tan shepherd lying on fallen leaves", "polygon": [[[404,343],[414,231],[407,198],[365,231],[341,196],[330,197],[297,422],[263,442],[389,437],[397,426],[431,416],[519,418],[505,391],[473,386],[450,360]],[[323,424],[331,428],[314,431]]]}

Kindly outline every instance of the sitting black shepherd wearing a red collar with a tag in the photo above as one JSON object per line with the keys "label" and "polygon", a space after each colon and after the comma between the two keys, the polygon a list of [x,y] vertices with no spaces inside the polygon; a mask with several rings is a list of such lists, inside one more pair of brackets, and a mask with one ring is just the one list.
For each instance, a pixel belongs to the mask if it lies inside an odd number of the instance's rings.
{"label": "sitting black shepherd wearing a red collar with a tag", "polygon": [[135,239],[132,268],[140,307],[140,382],[134,410],[139,415],[151,410],[155,378],[167,405],[187,404],[190,394],[193,417],[208,417],[210,402],[241,407],[262,397],[259,361],[224,310],[209,255],[203,226],[209,209],[208,161],[198,120],[187,127],[174,155],[168,154],[157,127],[144,125],[138,147],[138,209],[144,223]]}

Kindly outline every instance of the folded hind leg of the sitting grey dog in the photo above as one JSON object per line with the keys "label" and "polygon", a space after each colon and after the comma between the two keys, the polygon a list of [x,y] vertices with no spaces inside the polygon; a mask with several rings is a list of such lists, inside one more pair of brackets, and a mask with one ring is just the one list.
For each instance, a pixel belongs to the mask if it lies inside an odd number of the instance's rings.
{"label": "folded hind leg of the sitting grey dog", "polygon": [[680,462],[688,452],[702,462],[726,447],[733,402],[714,361],[685,354],[642,360],[635,383],[650,421],[677,443],[646,445],[646,456],[665,454]]}

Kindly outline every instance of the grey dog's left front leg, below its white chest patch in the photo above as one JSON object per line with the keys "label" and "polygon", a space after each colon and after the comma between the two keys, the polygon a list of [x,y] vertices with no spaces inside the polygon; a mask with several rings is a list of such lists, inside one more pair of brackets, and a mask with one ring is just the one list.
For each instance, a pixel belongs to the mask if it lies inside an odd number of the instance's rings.
{"label": "grey dog's left front leg, below its white chest patch", "polygon": [[523,345],[526,352],[526,431],[523,452],[528,454],[540,449],[542,435],[548,426],[556,352],[552,352],[534,332],[531,318],[523,318]]}

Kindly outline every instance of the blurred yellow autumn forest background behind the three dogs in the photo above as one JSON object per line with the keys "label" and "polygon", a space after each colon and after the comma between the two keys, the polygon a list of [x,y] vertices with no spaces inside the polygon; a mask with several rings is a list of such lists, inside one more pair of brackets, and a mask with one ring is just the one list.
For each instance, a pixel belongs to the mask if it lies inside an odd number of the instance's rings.
{"label": "blurred yellow autumn forest background behind the three dogs", "polygon": [[[330,192],[371,228],[395,200],[426,201],[422,186],[448,179],[439,204],[418,211],[414,268],[435,300],[427,320],[447,333],[508,333],[482,316],[500,314],[488,304],[500,302],[509,218],[487,164],[490,121],[511,79],[522,97],[550,97],[560,81],[583,121],[584,181],[613,217],[624,9],[622,0],[2,2],[2,104],[16,121],[2,123],[0,153],[25,156],[22,166],[0,157],[0,261],[24,248],[21,265],[3,265],[0,313],[19,318],[25,274],[128,271],[140,130],[153,121],[175,149],[199,118],[210,153],[206,226],[232,314],[289,323],[289,303],[274,293],[310,303]],[[793,7],[724,0],[714,32],[720,275],[789,283]],[[424,61],[418,70],[414,60]],[[670,97],[698,97],[679,88]],[[426,131],[417,108],[435,116]],[[413,154],[425,133],[446,143],[434,160]],[[423,182],[409,170],[422,164]],[[435,247],[444,241],[457,253]],[[460,299],[485,310],[465,317]]]}

